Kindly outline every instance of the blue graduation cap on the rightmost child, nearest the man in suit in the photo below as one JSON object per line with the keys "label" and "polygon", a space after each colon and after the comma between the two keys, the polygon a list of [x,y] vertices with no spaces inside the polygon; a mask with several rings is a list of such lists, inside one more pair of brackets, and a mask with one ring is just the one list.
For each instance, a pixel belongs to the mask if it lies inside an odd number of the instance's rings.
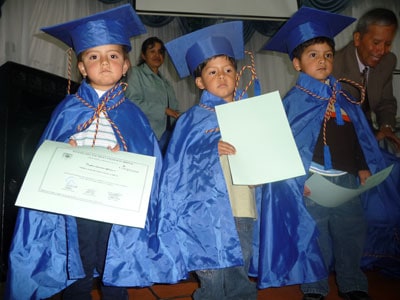
{"label": "blue graduation cap on the rightmost child, nearest the man in suit", "polygon": [[356,19],[310,7],[300,8],[262,49],[288,53],[300,44],[316,37],[334,37]]}

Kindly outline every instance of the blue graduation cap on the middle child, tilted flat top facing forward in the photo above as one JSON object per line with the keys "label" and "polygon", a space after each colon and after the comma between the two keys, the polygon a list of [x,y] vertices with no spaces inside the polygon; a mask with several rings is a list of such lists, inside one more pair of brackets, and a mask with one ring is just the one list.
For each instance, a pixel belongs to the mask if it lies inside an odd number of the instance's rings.
{"label": "blue graduation cap on the middle child, tilted flat top facing forward", "polygon": [[233,21],[211,25],[165,44],[180,78],[193,75],[206,59],[227,55],[244,57],[243,22]]}

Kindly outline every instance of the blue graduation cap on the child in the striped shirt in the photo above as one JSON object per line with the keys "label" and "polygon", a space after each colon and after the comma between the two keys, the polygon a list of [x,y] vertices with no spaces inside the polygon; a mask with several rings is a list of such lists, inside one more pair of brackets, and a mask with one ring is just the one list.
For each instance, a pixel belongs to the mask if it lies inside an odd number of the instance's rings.
{"label": "blue graduation cap on the child in the striped shirt", "polygon": [[129,39],[146,32],[130,4],[41,30],[73,48],[76,55],[107,44],[123,45],[130,51]]}

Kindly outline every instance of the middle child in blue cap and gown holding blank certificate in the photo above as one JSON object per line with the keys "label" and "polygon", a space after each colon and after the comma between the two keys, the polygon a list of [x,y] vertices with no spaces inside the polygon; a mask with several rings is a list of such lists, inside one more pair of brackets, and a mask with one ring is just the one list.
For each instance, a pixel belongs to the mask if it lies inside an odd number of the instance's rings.
{"label": "middle child in blue cap and gown holding blank certificate", "polygon": [[[249,280],[256,206],[254,188],[234,186],[215,106],[234,101],[236,59],[243,58],[242,22],[193,32],[165,46],[180,75],[194,76],[200,102],[177,121],[164,158],[160,198],[170,210],[161,236],[178,236],[184,261],[196,271],[194,299],[256,299]],[[163,218],[163,222],[167,218]]]}

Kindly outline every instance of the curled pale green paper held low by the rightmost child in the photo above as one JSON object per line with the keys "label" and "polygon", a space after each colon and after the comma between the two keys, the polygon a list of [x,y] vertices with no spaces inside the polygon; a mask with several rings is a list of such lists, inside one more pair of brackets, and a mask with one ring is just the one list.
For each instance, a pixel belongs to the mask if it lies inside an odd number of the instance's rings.
{"label": "curled pale green paper held low by the rightmost child", "polygon": [[392,169],[393,165],[368,177],[365,184],[360,185],[357,189],[341,187],[315,173],[306,180],[306,186],[311,190],[311,195],[307,197],[319,205],[336,207],[383,182]]}

